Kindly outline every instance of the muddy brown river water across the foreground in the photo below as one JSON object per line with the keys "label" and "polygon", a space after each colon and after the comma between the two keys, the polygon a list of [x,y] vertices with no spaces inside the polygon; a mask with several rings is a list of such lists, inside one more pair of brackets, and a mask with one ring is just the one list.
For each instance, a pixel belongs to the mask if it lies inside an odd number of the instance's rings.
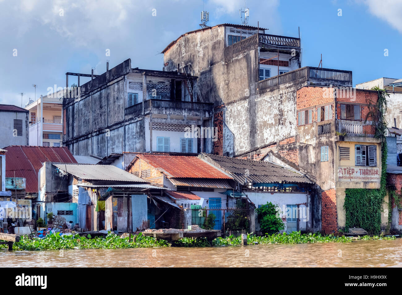
{"label": "muddy brown river water across the foreground", "polygon": [[402,239],[213,248],[0,250],[0,267],[402,267]]}

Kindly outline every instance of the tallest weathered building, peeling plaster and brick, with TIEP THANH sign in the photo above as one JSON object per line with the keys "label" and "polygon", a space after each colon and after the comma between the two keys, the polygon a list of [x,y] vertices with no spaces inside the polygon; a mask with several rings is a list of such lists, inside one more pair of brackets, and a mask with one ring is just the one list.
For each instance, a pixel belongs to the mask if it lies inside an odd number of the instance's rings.
{"label": "tallest weathered building, peeling plaster and brick, with TIEP THANH sign", "polygon": [[[250,37],[230,43],[236,34]],[[377,93],[353,89],[351,71],[301,67],[299,38],[221,24],[186,33],[162,53],[165,69],[193,69],[214,103],[213,153],[278,157],[310,174],[324,232],[345,227],[346,188],[379,187],[381,143],[367,118]]]}

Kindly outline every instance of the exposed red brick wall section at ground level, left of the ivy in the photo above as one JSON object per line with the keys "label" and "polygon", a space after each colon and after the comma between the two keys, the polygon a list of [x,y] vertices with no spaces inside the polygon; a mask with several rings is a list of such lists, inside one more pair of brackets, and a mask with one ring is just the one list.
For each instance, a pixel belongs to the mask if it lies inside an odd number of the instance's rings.
{"label": "exposed red brick wall section at ground level, left of the ivy", "polygon": [[338,232],[338,214],[336,213],[335,189],[328,189],[321,193],[321,222],[325,234]]}

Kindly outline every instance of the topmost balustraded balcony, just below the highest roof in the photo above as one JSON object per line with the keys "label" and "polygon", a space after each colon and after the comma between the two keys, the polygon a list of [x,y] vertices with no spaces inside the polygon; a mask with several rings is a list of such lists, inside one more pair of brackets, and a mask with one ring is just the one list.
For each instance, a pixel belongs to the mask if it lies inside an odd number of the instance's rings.
{"label": "topmost balustraded balcony, just below the highest roof", "polygon": [[[248,37],[238,43],[232,45],[232,53],[236,53],[250,47],[252,45],[257,45],[258,43],[262,43],[260,47],[269,47],[269,45],[273,46],[281,46],[281,47],[290,47],[291,48],[300,48],[300,39],[279,35],[268,35],[268,34],[256,34],[251,37]],[[275,47],[276,48],[276,47]],[[286,48],[281,48],[286,49]]]}

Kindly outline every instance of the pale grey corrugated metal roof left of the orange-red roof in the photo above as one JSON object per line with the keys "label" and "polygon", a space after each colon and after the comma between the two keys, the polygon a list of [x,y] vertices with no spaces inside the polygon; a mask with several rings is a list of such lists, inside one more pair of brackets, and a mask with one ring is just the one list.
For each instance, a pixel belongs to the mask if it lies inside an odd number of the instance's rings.
{"label": "pale grey corrugated metal roof left of the orange-red roof", "polygon": [[112,165],[91,165],[91,164],[53,164],[53,165],[81,179],[146,183],[144,179],[141,179],[131,173],[128,173]]}

